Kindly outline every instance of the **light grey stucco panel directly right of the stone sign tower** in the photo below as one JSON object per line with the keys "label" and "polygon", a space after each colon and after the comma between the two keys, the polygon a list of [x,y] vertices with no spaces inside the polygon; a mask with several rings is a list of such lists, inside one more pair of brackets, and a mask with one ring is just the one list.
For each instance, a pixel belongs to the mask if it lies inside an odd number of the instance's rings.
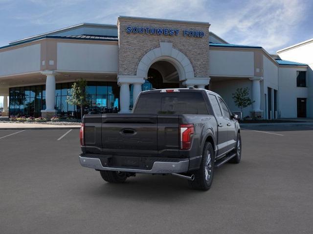
{"label": "light grey stucco panel directly right of the stone sign tower", "polygon": [[210,76],[254,76],[251,51],[212,50],[209,55]]}

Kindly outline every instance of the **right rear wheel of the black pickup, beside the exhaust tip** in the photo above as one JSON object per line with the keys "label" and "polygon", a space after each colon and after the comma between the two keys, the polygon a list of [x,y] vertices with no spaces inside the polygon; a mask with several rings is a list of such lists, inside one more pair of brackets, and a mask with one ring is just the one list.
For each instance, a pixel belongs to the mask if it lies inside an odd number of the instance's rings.
{"label": "right rear wheel of the black pickup, beside the exhaust tip", "polygon": [[209,190],[214,175],[214,150],[210,142],[205,142],[200,168],[194,173],[195,179],[188,181],[189,186],[198,190]]}

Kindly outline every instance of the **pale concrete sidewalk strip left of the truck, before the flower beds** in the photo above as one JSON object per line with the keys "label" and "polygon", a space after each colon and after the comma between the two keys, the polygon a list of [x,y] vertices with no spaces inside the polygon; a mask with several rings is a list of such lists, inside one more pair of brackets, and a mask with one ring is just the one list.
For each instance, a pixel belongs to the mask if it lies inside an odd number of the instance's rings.
{"label": "pale concrete sidewalk strip left of the truck, before the flower beds", "polygon": [[80,125],[52,125],[40,123],[0,123],[0,130],[8,129],[80,129]]}

